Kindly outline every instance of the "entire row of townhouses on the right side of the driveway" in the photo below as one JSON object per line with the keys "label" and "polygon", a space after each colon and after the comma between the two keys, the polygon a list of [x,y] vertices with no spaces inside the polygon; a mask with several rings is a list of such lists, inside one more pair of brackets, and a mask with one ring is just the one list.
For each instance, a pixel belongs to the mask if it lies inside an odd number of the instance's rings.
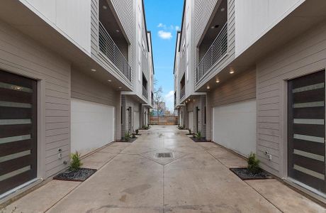
{"label": "entire row of townhouses on the right side of the driveway", "polygon": [[179,125],[325,202],[326,2],[186,0]]}

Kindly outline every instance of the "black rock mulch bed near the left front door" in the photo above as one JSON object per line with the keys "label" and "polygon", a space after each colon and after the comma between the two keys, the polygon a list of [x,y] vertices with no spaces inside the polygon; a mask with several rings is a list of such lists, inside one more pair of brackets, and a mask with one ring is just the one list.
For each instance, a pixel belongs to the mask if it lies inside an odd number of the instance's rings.
{"label": "black rock mulch bed near the left front door", "polygon": [[87,178],[91,177],[96,172],[94,169],[90,168],[80,168],[76,172],[67,170],[59,175],[56,175],[53,180],[67,180],[67,181],[79,181],[82,182]]}

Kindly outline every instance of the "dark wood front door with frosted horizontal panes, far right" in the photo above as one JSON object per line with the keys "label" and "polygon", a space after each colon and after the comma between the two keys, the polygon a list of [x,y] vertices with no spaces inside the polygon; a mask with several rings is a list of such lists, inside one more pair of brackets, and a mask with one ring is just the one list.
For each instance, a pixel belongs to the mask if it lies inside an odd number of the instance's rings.
{"label": "dark wood front door with frosted horizontal panes, far right", "polygon": [[288,81],[288,176],[325,185],[325,70]]}

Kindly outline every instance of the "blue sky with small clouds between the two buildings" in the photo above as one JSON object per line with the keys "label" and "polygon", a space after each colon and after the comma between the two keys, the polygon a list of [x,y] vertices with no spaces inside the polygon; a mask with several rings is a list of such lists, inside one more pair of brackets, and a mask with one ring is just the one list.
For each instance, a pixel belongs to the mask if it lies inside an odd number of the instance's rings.
{"label": "blue sky with small clouds between the two buildings", "polygon": [[154,71],[169,110],[174,109],[174,51],[184,0],[144,0],[147,31],[152,32]]}

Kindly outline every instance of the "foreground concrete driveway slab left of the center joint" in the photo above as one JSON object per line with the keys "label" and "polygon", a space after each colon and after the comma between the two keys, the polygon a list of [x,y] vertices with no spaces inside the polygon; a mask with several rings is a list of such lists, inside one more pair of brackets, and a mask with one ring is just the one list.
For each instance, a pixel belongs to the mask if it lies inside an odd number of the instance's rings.
{"label": "foreground concrete driveway slab left of the center joint", "polygon": [[160,212],[163,166],[140,155],[118,155],[49,212]]}

